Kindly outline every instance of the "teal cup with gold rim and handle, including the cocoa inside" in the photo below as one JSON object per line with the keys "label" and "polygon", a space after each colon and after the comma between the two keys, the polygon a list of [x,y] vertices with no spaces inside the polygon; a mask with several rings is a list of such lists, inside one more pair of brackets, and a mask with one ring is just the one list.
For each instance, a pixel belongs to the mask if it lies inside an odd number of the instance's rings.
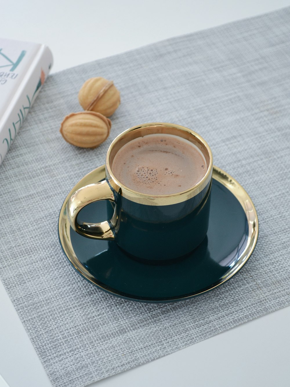
{"label": "teal cup with gold rim and handle, including the cocoa inside", "polygon": [[[68,220],[79,234],[114,241],[148,262],[181,257],[206,236],[212,171],[210,147],[193,130],[171,123],[132,127],[109,146],[106,179],[71,195]],[[98,200],[108,201],[108,218],[78,223],[78,213]]]}

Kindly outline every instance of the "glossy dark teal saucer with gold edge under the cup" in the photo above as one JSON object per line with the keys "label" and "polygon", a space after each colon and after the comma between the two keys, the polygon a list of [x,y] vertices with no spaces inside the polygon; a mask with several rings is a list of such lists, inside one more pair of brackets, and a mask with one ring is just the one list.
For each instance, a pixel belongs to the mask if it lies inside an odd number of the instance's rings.
{"label": "glossy dark teal saucer with gold edge under the cup", "polygon": [[[112,241],[93,240],[70,228],[66,204],[80,187],[105,177],[104,166],[84,176],[65,199],[58,223],[60,244],[70,264],[87,281],[115,296],[143,302],[180,301],[205,293],[234,276],[250,257],[258,239],[258,217],[249,195],[231,176],[213,170],[210,226],[193,252],[160,264],[138,260]],[[98,218],[92,218],[97,213]],[[107,219],[104,201],[88,205],[81,221]]]}

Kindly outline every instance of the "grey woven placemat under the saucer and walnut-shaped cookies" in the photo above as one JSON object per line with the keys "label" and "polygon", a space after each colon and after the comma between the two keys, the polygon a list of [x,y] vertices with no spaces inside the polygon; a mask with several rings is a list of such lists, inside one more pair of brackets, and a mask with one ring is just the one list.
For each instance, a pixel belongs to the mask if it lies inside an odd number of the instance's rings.
{"label": "grey woven placemat under the saucer and walnut-shaped cookies", "polygon": [[[51,75],[0,167],[0,276],[53,385],[78,387],[177,351],[290,303],[290,9],[181,36]],[[97,48],[96,48],[97,50]],[[83,150],[59,133],[93,76],[121,105],[109,139]],[[247,265],[192,300],[108,295],[63,256],[58,214],[111,140],[144,122],[193,128],[256,205]]]}

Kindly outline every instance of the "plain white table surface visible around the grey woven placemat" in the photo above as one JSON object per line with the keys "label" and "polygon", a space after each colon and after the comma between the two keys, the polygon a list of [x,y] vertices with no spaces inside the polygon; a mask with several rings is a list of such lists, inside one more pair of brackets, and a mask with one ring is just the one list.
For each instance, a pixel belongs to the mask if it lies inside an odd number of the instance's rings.
{"label": "plain white table surface visible around the grey woven placemat", "polygon": [[[47,44],[53,73],[289,5],[290,0],[15,0],[1,3],[0,36]],[[288,387],[289,325],[287,307],[90,386]],[[0,375],[0,387],[51,387],[1,282]]]}

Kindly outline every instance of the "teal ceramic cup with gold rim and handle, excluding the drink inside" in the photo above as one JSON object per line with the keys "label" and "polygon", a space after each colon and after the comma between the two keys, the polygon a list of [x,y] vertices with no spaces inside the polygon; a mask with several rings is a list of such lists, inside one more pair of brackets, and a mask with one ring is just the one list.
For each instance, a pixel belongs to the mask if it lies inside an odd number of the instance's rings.
{"label": "teal ceramic cup with gold rim and handle, excluding the drink inside", "polygon": [[[119,181],[112,163],[121,147],[150,134],[169,134],[188,140],[205,159],[203,178],[174,194],[152,195],[135,191]],[[210,212],[213,158],[205,140],[193,130],[171,123],[146,123],[121,133],[106,156],[106,180],[80,188],[67,203],[73,230],[88,238],[115,241],[126,253],[146,260],[181,257],[196,248],[206,236]],[[77,221],[78,213],[97,200],[108,200],[114,208],[111,219],[101,223]]]}

